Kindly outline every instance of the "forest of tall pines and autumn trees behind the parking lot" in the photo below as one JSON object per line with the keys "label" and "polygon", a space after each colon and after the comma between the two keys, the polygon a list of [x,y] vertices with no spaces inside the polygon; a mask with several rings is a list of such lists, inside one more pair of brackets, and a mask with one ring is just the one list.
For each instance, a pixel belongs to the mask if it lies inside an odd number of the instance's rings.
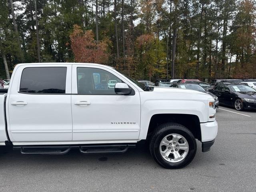
{"label": "forest of tall pines and autumn trees behind the parking lot", "polygon": [[0,0],[0,78],[30,62],[151,81],[256,78],[256,1]]}

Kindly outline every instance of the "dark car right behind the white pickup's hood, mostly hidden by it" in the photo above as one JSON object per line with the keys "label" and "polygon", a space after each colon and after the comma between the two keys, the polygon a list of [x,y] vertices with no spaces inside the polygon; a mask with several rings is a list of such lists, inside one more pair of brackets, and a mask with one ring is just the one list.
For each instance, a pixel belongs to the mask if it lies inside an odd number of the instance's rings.
{"label": "dark car right behind the white pickup's hood, mostly hidden by it", "polygon": [[200,86],[197,83],[174,83],[170,87],[182,88],[182,89],[192,89],[192,90],[196,90],[196,91],[207,93],[207,94],[209,94],[210,96],[212,96],[214,98],[214,100],[215,100],[215,107],[216,108],[219,107],[218,97],[216,95],[212,94],[211,92],[205,90],[202,86]]}

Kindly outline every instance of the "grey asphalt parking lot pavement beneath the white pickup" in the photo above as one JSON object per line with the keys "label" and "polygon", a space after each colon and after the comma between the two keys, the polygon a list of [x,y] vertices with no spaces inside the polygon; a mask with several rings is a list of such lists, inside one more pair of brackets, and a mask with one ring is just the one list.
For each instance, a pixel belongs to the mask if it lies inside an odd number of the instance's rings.
{"label": "grey asphalt parking lot pavement beneath the white pickup", "polygon": [[0,155],[0,192],[255,192],[256,111],[220,108],[214,146],[202,153],[198,142],[186,168],[158,166],[143,145],[104,156],[24,156],[9,150]]}

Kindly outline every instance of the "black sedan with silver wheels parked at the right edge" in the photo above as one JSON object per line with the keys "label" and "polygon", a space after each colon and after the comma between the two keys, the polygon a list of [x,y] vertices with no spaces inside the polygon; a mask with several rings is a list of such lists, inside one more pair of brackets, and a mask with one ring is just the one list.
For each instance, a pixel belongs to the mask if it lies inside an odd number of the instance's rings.
{"label": "black sedan with silver wheels parked at the right edge", "polygon": [[218,85],[209,90],[219,98],[222,105],[241,111],[256,109],[256,90],[243,84]]}

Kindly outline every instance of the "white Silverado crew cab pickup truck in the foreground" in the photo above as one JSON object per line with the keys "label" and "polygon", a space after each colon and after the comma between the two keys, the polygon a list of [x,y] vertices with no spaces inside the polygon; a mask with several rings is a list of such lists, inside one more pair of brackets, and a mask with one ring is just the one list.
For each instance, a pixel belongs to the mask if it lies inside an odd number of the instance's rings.
{"label": "white Silverado crew cab pickup truck in the foreground", "polygon": [[158,164],[181,168],[218,130],[209,94],[146,87],[100,64],[18,64],[1,92],[0,145],[22,154],[122,153],[148,140]]}

